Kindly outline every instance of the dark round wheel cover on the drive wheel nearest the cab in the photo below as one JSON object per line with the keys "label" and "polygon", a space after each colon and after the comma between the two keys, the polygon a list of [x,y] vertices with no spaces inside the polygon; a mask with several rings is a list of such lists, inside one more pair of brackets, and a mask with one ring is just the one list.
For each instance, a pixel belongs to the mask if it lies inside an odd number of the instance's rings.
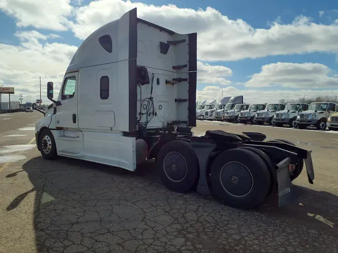
{"label": "dark round wheel cover on the drive wheel nearest the cab", "polygon": [[163,169],[166,176],[174,181],[182,181],[187,174],[187,162],[178,152],[168,153],[163,160]]}

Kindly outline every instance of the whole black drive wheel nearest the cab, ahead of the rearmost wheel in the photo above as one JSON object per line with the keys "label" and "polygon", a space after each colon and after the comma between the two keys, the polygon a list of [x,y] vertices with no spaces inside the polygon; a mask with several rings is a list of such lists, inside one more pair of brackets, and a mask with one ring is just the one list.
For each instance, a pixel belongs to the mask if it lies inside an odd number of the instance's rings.
{"label": "whole black drive wheel nearest the cab, ahead of the rearmost wheel", "polygon": [[198,158],[189,142],[172,140],[160,149],[156,158],[156,170],[163,185],[168,189],[187,192],[198,179]]}

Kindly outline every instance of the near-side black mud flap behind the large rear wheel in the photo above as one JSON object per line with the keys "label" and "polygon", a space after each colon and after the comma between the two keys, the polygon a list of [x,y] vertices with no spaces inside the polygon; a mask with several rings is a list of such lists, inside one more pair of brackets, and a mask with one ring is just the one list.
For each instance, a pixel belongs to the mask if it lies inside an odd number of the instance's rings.
{"label": "near-side black mud flap behind the large rear wheel", "polygon": [[293,184],[289,175],[288,165],[290,162],[291,158],[287,157],[276,165],[278,182],[278,206],[291,203],[298,198],[298,194],[293,190]]}

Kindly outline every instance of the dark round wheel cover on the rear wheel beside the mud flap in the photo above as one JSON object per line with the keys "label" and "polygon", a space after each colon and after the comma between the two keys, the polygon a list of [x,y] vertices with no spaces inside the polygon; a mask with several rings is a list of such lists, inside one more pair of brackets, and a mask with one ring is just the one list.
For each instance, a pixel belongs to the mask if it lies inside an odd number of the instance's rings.
{"label": "dark round wheel cover on the rear wheel beside the mud flap", "polygon": [[253,185],[250,170],[240,162],[226,163],[219,172],[219,180],[223,189],[234,197],[247,195]]}

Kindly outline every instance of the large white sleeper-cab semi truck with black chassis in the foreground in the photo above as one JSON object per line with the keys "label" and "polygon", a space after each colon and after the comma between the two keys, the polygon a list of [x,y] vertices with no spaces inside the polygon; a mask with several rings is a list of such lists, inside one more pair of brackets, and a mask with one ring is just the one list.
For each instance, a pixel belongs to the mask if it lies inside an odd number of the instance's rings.
{"label": "large white sleeper-cab semi truck with black chassis in the foreground", "polygon": [[178,34],[138,18],[134,8],[83,41],[55,99],[47,83],[53,104],[46,111],[34,104],[44,113],[37,148],[49,160],[60,155],[131,171],[155,159],[168,189],[196,187],[233,207],[261,204],[276,189],[280,206],[293,201],[291,181],[304,162],[313,183],[311,151],[259,132],[192,136],[196,71],[197,33]]}

